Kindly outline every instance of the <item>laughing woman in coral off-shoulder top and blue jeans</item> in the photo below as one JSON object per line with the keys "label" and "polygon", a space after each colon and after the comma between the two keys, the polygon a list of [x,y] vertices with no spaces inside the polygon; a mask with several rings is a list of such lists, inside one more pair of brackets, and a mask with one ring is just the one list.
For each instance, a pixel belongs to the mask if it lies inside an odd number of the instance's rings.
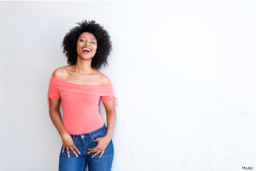
{"label": "laughing woman in coral off-shoulder top and blue jeans", "polygon": [[[77,24],[62,42],[70,65],[53,72],[48,91],[50,117],[63,143],[59,170],[85,170],[87,163],[90,171],[111,170],[115,97],[109,78],[98,71],[112,50],[110,36],[94,21]],[[99,114],[100,98],[108,127]]]}

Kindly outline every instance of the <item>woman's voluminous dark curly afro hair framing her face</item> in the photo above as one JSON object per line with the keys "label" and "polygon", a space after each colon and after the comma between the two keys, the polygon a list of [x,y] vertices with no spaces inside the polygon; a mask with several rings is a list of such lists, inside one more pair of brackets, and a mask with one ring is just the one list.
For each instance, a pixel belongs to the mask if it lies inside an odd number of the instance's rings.
{"label": "woman's voluminous dark curly afro hair framing her face", "polygon": [[94,34],[97,39],[97,53],[92,58],[92,68],[99,70],[102,65],[108,65],[108,61],[106,61],[106,58],[108,58],[112,50],[112,42],[110,40],[109,33],[104,30],[103,26],[95,23],[94,20],[82,20],[80,23],[76,24],[78,24],[79,26],[70,29],[69,33],[65,35],[62,41],[63,53],[65,53],[68,57],[68,64],[76,65],[76,44],[78,37],[83,32],[89,32]]}

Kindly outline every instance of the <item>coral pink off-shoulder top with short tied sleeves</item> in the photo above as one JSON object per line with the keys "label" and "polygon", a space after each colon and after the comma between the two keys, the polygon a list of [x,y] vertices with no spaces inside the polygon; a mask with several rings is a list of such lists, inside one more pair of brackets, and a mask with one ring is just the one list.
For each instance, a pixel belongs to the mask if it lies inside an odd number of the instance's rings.
{"label": "coral pink off-shoulder top with short tied sleeves", "polygon": [[85,134],[99,129],[104,120],[99,114],[99,99],[109,103],[116,98],[111,82],[105,86],[75,84],[51,76],[48,90],[52,99],[61,98],[63,125],[69,134]]}

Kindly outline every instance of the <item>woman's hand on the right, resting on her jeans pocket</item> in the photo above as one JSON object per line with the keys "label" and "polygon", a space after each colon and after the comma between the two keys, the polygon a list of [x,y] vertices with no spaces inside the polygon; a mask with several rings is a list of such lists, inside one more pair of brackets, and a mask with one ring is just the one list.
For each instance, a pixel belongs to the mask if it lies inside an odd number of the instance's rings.
{"label": "woman's hand on the right, resting on her jeans pocket", "polygon": [[100,156],[99,156],[99,158],[101,158],[101,156],[103,155],[103,153],[105,151],[106,146],[108,146],[109,142],[111,141],[111,138],[100,137],[100,138],[96,138],[94,141],[98,142],[98,145],[95,148],[88,149],[89,150],[88,154],[95,153],[92,156],[92,158],[93,158],[94,156],[101,153]]}

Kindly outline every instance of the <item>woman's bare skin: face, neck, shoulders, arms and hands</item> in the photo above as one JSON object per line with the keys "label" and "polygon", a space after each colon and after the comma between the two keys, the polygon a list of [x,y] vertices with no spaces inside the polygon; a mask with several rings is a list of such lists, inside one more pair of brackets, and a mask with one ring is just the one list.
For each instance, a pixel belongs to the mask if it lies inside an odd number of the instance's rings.
{"label": "woman's bare skin: face, neck, shoulders, arms and hands", "polygon": [[[82,48],[89,48],[91,52],[83,52]],[[72,66],[65,66],[56,69],[53,72],[53,76],[71,83],[76,84],[90,84],[96,86],[105,86],[107,85],[110,80],[107,76],[102,74],[101,72],[93,69],[91,67],[92,58],[94,57],[97,51],[97,39],[96,37],[89,32],[82,33],[78,40],[77,40],[77,63],[76,65]],[[69,133],[65,130],[61,119],[60,119],[60,112],[59,112],[59,102],[60,99],[51,99],[49,98],[50,108],[49,111],[51,120],[55,125],[63,143],[62,153],[64,152],[65,148],[67,148],[68,157],[70,157],[70,150],[78,157],[80,154],[79,150],[75,146],[72,137]],[[109,103],[103,103],[104,108],[106,110],[106,122],[108,124],[106,135],[101,138],[96,138],[95,141],[98,142],[98,145],[95,148],[88,149],[90,153],[94,153],[94,156],[100,154],[99,158],[104,153],[106,146],[108,146],[109,142],[111,141],[112,132],[114,129],[115,121],[116,121],[116,111],[114,107],[114,100]]]}

